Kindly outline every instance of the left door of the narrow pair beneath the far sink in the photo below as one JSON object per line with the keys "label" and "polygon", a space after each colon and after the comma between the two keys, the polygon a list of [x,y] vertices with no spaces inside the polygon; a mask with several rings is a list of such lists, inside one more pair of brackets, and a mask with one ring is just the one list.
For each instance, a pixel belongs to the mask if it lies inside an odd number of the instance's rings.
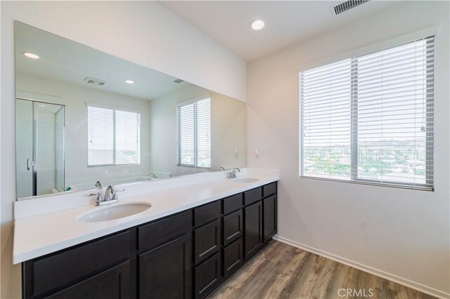
{"label": "left door of the narrow pair beneath the far sink", "polygon": [[244,209],[245,215],[245,260],[257,253],[262,246],[262,204],[255,204]]}

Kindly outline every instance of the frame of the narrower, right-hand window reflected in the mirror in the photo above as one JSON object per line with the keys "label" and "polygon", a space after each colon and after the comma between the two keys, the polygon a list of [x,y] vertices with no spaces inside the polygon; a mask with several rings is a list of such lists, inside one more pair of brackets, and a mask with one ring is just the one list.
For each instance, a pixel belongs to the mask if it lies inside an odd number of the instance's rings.
{"label": "frame of the narrower, right-hand window reflected in the mirror", "polygon": [[[212,98],[211,95],[207,94],[207,95],[203,95],[200,96],[198,98],[193,98],[191,100],[187,100],[184,102],[180,102],[176,105],[176,166],[179,167],[190,167],[190,168],[199,168],[199,169],[211,169],[212,167],[212,147],[210,145],[210,167],[205,167],[205,166],[198,166],[198,122],[196,121],[198,119],[198,117],[195,116],[195,114],[198,113],[198,109],[197,109],[197,105],[195,105],[197,102],[201,101],[201,100],[207,100],[210,99],[210,117],[211,117],[211,103],[212,103]],[[181,134],[179,131],[179,108],[186,106],[186,105],[191,105],[194,104],[193,107],[193,113],[194,113],[194,133],[193,133],[193,138],[194,138],[194,164],[181,164],[181,150],[180,150],[180,138],[181,138]],[[210,132],[211,132],[211,119],[210,119]],[[211,133],[210,133],[210,138],[211,138]]]}

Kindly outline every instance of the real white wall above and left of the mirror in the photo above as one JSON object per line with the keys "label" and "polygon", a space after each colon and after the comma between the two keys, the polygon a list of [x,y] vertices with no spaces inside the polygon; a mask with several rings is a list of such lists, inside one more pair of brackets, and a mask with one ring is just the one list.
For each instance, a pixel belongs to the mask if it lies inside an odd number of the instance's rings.
{"label": "real white wall above and left of the mirror", "polygon": [[[152,1],[1,1],[1,298],[20,298],[11,265],[15,200],[13,20],[245,100],[246,64]],[[214,74],[214,75],[212,75]]]}

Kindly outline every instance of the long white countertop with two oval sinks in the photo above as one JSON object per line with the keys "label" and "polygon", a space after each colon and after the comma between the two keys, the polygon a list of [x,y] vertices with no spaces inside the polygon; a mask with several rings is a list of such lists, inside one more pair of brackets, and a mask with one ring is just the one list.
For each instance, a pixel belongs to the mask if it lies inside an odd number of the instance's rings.
{"label": "long white countertop with two oval sinks", "polygon": [[[245,178],[256,178],[258,181],[234,182],[226,178],[219,178],[127,197],[120,199],[117,204],[100,207],[90,204],[89,206],[16,219],[13,264],[275,182],[279,179],[279,175],[278,173],[276,175],[273,173],[251,174],[245,175]],[[80,214],[89,211],[136,202],[150,203],[151,207],[141,213],[117,220],[102,222],[79,222],[77,220]]]}

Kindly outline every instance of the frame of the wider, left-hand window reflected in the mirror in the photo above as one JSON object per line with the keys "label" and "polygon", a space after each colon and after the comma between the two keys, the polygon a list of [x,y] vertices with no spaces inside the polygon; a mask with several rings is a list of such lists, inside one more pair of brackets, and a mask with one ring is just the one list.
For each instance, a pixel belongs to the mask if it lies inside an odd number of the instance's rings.
{"label": "frame of the wider, left-hand window reflected in the mirror", "polygon": [[[113,163],[106,163],[106,164],[89,164],[89,125],[88,125],[88,147],[87,147],[87,167],[93,168],[93,167],[104,167],[104,166],[127,166],[127,165],[141,165],[141,112],[132,110],[132,109],[124,109],[120,107],[111,107],[108,105],[98,105],[94,103],[86,102],[86,109],[87,109],[87,119],[89,124],[89,107],[94,108],[101,108],[101,109],[109,109],[113,111]],[[138,140],[136,140],[137,143],[137,149],[138,149],[138,161],[136,163],[116,163],[116,111],[120,112],[131,112],[135,113],[138,116],[137,120],[137,136]]]}

